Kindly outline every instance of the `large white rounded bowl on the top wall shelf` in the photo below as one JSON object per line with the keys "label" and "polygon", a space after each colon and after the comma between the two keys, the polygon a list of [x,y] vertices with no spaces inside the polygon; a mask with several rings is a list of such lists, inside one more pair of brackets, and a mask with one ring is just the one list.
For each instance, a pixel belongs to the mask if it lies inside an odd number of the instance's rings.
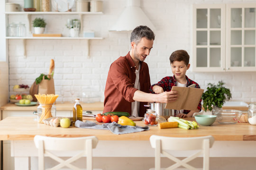
{"label": "large white rounded bowl on the top wall shelf", "polygon": [[52,7],[55,11],[66,12],[74,5],[74,0],[52,0]]}

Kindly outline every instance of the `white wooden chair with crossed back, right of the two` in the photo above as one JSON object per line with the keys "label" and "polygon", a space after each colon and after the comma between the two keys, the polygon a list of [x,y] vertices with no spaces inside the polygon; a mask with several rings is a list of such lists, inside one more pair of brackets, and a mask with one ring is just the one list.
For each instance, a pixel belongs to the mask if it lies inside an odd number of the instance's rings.
{"label": "white wooden chair with crossed back, right of the two", "polygon": [[[183,166],[190,170],[196,170],[196,168],[187,164],[187,162],[195,159],[199,155],[203,155],[203,170],[209,170],[209,153],[214,138],[212,136],[200,136],[200,137],[167,137],[167,136],[150,136],[150,144],[152,148],[155,148],[155,170],[160,170],[160,158],[161,153],[167,158],[175,161],[176,163],[165,170],[174,170],[180,166]],[[192,154],[191,156],[180,160],[174,157],[172,154],[166,152],[166,150],[186,151],[186,150],[200,150]],[[152,170],[152,169],[150,169]]]}

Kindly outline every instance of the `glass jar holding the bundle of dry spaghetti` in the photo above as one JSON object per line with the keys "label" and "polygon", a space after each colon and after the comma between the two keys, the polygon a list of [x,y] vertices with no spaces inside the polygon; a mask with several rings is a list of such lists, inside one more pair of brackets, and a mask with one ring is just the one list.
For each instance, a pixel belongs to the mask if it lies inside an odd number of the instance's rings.
{"label": "glass jar holding the bundle of dry spaghetti", "polygon": [[56,117],[55,103],[43,104],[39,103],[37,107],[37,121],[38,123],[44,123],[44,119]]}

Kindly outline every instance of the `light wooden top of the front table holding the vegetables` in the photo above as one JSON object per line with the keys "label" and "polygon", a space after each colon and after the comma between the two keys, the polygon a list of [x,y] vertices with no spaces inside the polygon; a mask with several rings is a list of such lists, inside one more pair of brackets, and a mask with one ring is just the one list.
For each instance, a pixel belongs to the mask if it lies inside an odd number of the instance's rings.
{"label": "light wooden top of the front table holding the vegetables", "polygon": [[[57,137],[97,136],[100,140],[149,140],[151,135],[192,137],[211,135],[219,141],[250,141],[256,140],[256,126],[249,123],[221,125],[215,122],[210,127],[200,126],[199,129],[185,130],[182,128],[150,130],[123,135],[112,134],[109,130],[82,129],[76,127],[62,128],[38,124],[36,117],[8,117],[0,121],[0,140],[33,140],[36,135]],[[194,120],[194,118],[185,118]],[[145,126],[136,121],[138,126]]]}

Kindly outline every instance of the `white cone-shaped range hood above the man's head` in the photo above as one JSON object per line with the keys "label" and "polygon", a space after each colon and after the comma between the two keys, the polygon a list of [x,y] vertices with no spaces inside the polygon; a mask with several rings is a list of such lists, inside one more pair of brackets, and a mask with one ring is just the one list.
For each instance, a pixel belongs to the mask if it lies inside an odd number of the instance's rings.
{"label": "white cone-shaped range hood above the man's head", "polygon": [[140,8],[140,0],[127,0],[127,6],[110,31],[132,31],[137,26],[148,26],[155,30],[155,26]]}

